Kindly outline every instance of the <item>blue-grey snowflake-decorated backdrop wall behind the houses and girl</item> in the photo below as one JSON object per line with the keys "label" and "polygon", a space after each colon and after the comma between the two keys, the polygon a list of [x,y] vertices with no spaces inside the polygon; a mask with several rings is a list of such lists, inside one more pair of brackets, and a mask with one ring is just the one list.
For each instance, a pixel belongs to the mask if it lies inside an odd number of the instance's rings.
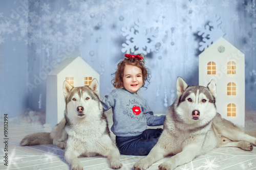
{"label": "blue-grey snowflake-decorated backdrop wall behind the houses and girl", "polygon": [[[175,99],[176,78],[198,85],[198,55],[219,37],[245,54],[246,109],[256,110],[255,0],[0,0],[0,113],[46,110],[53,62],[81,56],[100,74],[100,95],[125,53],[152,71],[140,95],[156,113]],[[203,37],[206,37],[203,39]]]}

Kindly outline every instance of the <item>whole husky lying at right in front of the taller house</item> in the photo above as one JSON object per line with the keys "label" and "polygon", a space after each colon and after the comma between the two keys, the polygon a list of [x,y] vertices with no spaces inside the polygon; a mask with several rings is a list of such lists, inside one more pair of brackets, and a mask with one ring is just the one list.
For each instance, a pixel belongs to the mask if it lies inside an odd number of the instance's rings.
{"label": "whole husky lying at right in front of the taller house", "polygon": [[168,155],[174,156],[161,163],[159,169],[175,169],[216,147],[253,149],[256,138],[217,113],[214,81],[207,87],[188,86],[178,77],[176,85],[178,97],[168,108],[164,130],[151,152],[135,163],[135,170],[146,169]]}

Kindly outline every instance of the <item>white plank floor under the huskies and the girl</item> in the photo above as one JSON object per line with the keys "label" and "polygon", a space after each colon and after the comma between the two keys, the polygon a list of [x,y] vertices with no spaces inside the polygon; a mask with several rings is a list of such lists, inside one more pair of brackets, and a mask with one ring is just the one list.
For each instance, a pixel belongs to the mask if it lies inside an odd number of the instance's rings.
{"label": "white plank floor under the huskies and the girl", "polygon": [[[2,124],[2,123],[1,123]],[[1,125],[3,127],[3,124]],[[4,128],[1,128],[1,134]],[[247,131],[256,131],[255,127],[245,128]],[[29,147],[21,147],[20,140],[27,134],[35,132],[49,132],[40,125],[32,124],[9,124],[8,128],[8,152],[4,151],[4,138],[1,139],[1,163],[0,169],[70,169],[70,166],[64,160],[64,150],[49,145],[34,145]],[[2,135],[3,136],[3,135]],[[8,166],[4,165],[3,156],[8,153]],[[121,155],[123,164],[121,169],[132,169],[135,162],[143,156],[126,156]],[[158,169],[158,165],[169,158],[164,158],[148,169]],[[109,162],[104,157],[83,157],[80,158],[83,169],[111,169]],[[176,169],[183,170],[214,170],[214,169],[256,169],[256,147],[253,151],[247,152],[238,148],[218,148],[210,151],[207,155],[199,156],[192,162],[179,166]]]}

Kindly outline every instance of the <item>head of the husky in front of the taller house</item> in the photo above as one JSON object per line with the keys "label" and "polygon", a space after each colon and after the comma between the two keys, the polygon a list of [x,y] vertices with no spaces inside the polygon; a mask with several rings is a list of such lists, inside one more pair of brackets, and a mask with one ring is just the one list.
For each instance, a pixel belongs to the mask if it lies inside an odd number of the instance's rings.
{"label": "head of the husky in front of the taller house", "polygon": [[188,86],[182,78],[178,77],[176,86],[178,95],[176,111],[185,123],[204,125],[216,115],[217,94],[213,80],[207,87]]}

